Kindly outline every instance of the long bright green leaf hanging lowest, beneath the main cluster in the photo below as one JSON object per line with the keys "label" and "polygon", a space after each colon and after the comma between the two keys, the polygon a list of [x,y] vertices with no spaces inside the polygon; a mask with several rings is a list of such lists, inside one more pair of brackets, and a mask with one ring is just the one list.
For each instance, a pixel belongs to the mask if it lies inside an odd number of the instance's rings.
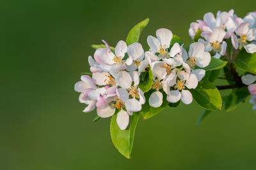
{"label": "long bright green leaf hanging lowest, beneath the main cluster", "polygon": [[[118,111],[116,112],[118,113]],[[133,113],[132,117],[130,117],[129,125],[125,130],[121,130],[116,123],[117,113],[115,113],[115,115],[113,115],[111,118],[111,139],[118,152],[127,157],[127,159],[130,159],[134,140],[134,132],[140,116],[140,112]]]}

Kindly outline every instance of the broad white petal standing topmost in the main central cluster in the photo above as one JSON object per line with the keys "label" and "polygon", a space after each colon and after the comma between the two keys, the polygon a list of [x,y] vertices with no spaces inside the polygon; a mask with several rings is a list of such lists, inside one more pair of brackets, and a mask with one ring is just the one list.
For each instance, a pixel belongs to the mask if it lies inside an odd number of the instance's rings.
{"label": "broad white petal standing topmost in the main central cluster", "polygon": [[166,45],[166,48],[170,47],[170,42],[172,40],[172,31],[169,29],[157,29],[156,37],[161,43],[161,45]]}

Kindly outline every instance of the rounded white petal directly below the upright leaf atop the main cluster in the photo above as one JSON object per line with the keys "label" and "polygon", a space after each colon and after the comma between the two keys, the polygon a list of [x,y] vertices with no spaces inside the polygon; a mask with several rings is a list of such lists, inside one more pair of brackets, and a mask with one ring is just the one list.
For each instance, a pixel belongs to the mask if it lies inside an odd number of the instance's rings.
{"label": "rounded white petal directly below the upright leaf atop the main cluster", "polygon": [[129,45],[127,52],[129,57],[132,57],[133,60],[138,59],[141,61],[144,58],[144,50],[140,43],[133,43]]}

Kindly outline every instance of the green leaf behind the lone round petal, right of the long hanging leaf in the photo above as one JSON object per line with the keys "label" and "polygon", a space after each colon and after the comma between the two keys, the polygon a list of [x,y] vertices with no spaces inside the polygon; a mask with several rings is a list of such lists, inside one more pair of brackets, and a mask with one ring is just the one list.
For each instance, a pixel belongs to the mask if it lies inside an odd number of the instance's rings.
{"label": "green leaf behind the lone round petal, right of the long hanging leaf", "polygon": [[[145,99],[149,99],[150,95],[154,91],[155,90],[149,90],[147,93],[145,93],[144,94]],[[168,106],[168,101],[166,100],[167,96],[166,96],[165,92],[163,92],[162,90],[161,90],[161,92],[163,94],[163,104],[159,108],[154,108],[154,107],[150,106],[148,103],[148,100],[146,101],[145,104],[142,105],[141,114],[142,114],[144,120],[147,120],[148,118],[153,117],[154,115],[157,115],[157,113],[164,110],[164,108],[166,108],[166,106]]]}

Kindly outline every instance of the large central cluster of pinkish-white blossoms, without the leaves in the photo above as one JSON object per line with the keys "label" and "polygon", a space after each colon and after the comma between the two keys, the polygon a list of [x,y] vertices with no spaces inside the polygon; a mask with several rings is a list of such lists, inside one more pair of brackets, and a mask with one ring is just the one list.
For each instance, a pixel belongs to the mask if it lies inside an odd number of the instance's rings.
{"label": "large central cluster of pinkish-white blossoms, without the leaves", "polygon": [[184,104],[193,101],[188,89],[195,89],[204,78],[205,71],[200,67],[209,65],[210,53],[205,52],[204,43],[199,42],[192,43],[188,52],[179,43],[170,46],[173,34],[168,29],[158,29],[156,37],[148,36],[150,50],[147,52],[140,43],[127,46],[125,41],[119,41],[113,52],[103,41],[106,48],[98,48],[94,57],[88,58],[92,78],[82,75],[75,85],[75,90],[81,92],[79,101],[88,104],[84,112],[97,108],[97,115],[106,118],[118,110],[116,123],[120,129],[126,129],[129,115],[140,111],[145,104],[140,77],[148,71],[152,71],[154,81],[150,88],[152,94],[147,99],[150,106],[158,108],[163,100],[170,103],[181,100]]}

